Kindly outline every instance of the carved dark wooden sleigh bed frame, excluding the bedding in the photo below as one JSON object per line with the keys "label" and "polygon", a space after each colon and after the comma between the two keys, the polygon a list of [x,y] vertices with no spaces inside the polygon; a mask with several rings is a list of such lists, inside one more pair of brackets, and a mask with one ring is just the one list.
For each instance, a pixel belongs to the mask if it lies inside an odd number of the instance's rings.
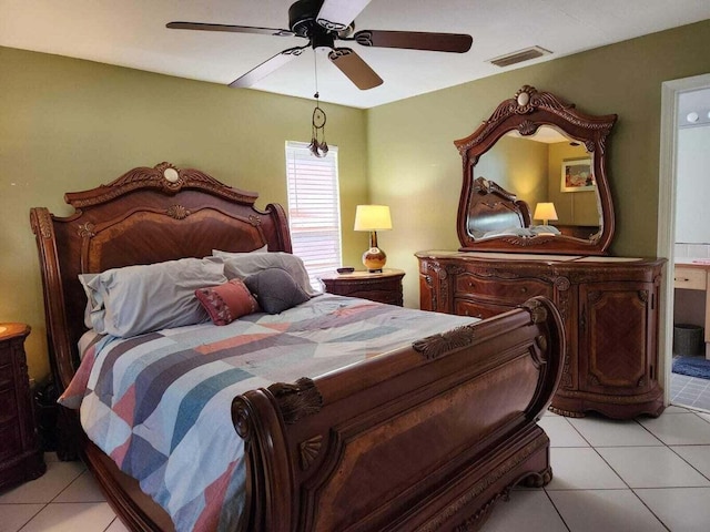
{"label": "carved dark wooden sleigh bed frame, excluding the bedding", "polygon": [[[69,193],[75,208],[30,212],[40,256],[51,367],[78,365],[80,273],[202,257],[213,248],[291,252],[284,211],[196,170],[162,163]],[[551,479],[536,420],[561,375],[559,314],[544,298],[315,379],[233,401],[246,442],[243,531],[477,530],[493,503]],[[172,530],[168,514],[61,408],[60,458],[79,454],[131,530]]]}

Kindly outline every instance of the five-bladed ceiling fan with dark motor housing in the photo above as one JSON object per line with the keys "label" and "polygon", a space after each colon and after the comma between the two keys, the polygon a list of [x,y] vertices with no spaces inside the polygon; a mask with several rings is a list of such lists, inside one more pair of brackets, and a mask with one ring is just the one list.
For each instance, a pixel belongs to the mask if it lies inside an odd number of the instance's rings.
{"label": "five-bladed ceiling fan with dark motor housing", "polygon": [[470,49],[473,39],[463,33],[432,33],[420,31],[355,31],[353,20],[371,0],[298,0],[288,8],[288,30],[257,28],[251,25],[213,24],[204,22],[169,22],[168,28],[178,30],[226,31],[234,33],[261,33],[274,37],[302,37],[308,39],[303,47],[294,47],[277,53],[230,86],[251,86],[271,74],[307,48],[323,51],[328,59],[358,89],[373,89],[383,83],[382,78],[351,48],[336,48],[335,41],[355,42],[364,47],[402,48],[436,52],[464,53]]}

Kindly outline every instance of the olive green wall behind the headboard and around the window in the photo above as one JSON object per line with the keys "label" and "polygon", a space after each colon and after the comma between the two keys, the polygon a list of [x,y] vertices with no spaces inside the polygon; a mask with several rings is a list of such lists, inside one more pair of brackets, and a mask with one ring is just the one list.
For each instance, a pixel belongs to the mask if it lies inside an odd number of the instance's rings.
{"label": "olive green wall behind the headboard and around the window", "polygon": [[[29,209],[71,213],[64,192],[163,161],[286,204],[284,142],[311,140],[314,102],[0,48],[0,323],[32,327],[30,375],[47,375],[44,314]],[[322,104],[339,149],[343,227],[367,202],[366,113]],[[343,231],[358,264],[367,235]]]}

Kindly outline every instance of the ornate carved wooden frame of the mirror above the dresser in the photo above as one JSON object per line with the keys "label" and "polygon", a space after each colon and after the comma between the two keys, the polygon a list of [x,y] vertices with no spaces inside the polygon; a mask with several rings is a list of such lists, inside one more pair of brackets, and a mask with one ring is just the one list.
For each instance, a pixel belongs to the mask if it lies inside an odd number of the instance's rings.
{"label": "ornate carved wooden frame of the mirror above the dresser", "polygon": [[[498,105],[493,115],[466,139],[454,141],[463,157],[464,183],[458,204],[457,232],[460,250],[514,253],[559,253],[569,255],[605,255],[613,236],[613,202],[607,176],[607,135],[617,120],[616,114],[592,116],[584,114],[549,92],[538,92],[524,85],[514,98]],[[599,232],[589,239],[565,235],[496,236],[476,239],[470,234],[469,215],[478,212],[480,184],[476,183],[475,166],[479,157],[506,133],[517,131],[521,136],[534,135],[542,125],[552,126],[570,139],[582,143],[592,154],[600,223]],[[480,180],[478,180],[480,181]],[[484,180],[485,181],[485,180]],[[488,191],[489,192],[489,191]],[[515,195],[511,195],[515,200]],[[489,201],[489,200],[488,200]],[[529,216],[529,212],[528,212]],[[528,221],[529,223],[529,221]]]}

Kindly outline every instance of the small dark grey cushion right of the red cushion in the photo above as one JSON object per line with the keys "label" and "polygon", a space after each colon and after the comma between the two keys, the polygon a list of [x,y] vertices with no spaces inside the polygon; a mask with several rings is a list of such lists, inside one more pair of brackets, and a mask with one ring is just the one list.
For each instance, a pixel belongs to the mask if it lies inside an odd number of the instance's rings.
{"label": "small dark grey cushion right of the red cushion", "polygon": [[284,269],[266,268],[244,279],[258,306],[268,314],[278,314],[307,301],[308,296]]}

